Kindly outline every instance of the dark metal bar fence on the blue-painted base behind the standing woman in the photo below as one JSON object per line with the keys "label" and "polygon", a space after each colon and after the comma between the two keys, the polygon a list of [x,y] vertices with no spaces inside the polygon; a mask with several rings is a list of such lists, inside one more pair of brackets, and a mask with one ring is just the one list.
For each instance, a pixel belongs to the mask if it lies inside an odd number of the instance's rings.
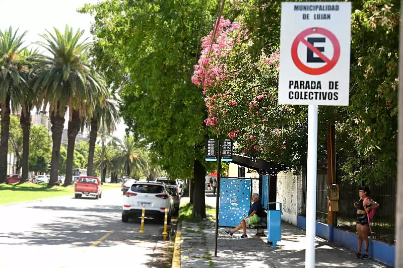
{"label": "dark metal bar fence on the blue-painted base behind the standing woman", "polygon": [[[337,228],[356,232],[357,211],[354,202],[358,202],[358,191],[364,183],[356,182],[342,170],[346,158],[338,157],[337,183],[339,184],[339,212],[337,213]],[[373,163],[367,161],[366,163]],[[361,163],[360,163],[361,164]],[[320,165],[318,165],[319,167]],[[389,244],[395,242],[395,209],[396,209],[396,183],[393,179],[376,185],[375,181],[367,181],[373,198],[380,207],[371,221],[373,234],[371,237]],[[327,175],[325,170],[318,169],[316,186],[316,220],[327,223]],[[306,215],[306,172],[302,173],[302,215]]]}

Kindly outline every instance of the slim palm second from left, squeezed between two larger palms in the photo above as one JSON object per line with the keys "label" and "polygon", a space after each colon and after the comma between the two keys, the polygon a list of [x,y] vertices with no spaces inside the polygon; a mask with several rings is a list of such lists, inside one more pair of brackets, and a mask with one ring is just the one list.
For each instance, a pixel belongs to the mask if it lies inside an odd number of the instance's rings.
{"label": "slim palm second from left, squeezed between two larger palms", "polygon": [[[32,70],[34,63],[39,60],[38,49],[28,50],[24,49],[22,54],[25,57],[25,62],[29,69]],[[19,91],[19,96],[17,96],[18,101],[21,105],[21,115],[20,124],[23,131],[23,150],[22,150],[22,175],[21,182],[28,181],[28,171],[29,171],[29,140],[31,131],[31,110],[37,103],[41,103],[42,100],[38,100],[38,92],[34,89],[33,83],[36,78],[34,72],[27,72],[23,74],[24,79],[27,83],[21,87]]]}

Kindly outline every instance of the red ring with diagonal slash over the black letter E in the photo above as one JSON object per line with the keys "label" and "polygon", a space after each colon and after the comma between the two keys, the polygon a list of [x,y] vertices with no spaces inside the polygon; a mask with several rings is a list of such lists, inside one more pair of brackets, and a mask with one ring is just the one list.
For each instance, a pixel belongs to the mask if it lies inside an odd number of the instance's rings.
{"label": "red ring with diagonal slash over the black letter E", "polygon": [[[316,47],[314,47],[311,43],[309,43],[304,38],[310,34],[321,34],[329,38],[331,44],[333,45],[334,53],[333,57],[329,59],[322,52],[320,52]],[[298,57],[298,45],[302,42],[304,45],[308,47],[308,49],[312,50],[316,55],[318,55],[326,64],[320,68],[310,68]],[[295,37],[294,42],[291,46],[291,57],[294,61],[294,64],[297,66],[299,70],[308,75],[322,75],[324,73],[329,72],[334,65],[338,62],[340,58],[340,43],[339,40],[332,34],[329,30],[319,27],[308,28],[302,31],[297,37]]]}

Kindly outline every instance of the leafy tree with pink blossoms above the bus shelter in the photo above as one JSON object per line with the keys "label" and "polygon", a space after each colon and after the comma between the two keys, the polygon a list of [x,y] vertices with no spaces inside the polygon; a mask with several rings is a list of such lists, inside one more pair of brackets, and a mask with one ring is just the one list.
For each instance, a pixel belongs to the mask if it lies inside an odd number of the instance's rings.
{"label": "leafy tree with pink blossoms above the bus shelter", "polygon": [[205,123],[237,142],[237,153],[298,167],[306,157],[306,109],[278,104],[278,49],[257,57],[242,22],[221,19],[202,38],[192,82],[205,94]]}

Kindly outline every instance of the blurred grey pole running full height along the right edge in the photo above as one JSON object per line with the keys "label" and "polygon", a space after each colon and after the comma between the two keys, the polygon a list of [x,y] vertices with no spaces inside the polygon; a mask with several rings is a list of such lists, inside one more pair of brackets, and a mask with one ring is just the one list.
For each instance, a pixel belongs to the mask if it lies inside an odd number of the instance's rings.
{"label": "blurred grey pole running full height along the right edge", "polygon": [[[399,23],[399,80],[403,77],[403,0],[400,1],[400,23]],[[396,255],[395,267],[403,267],[403,84],[399,81],[398,93],[398,124],[397,124],[397,192],[396,192]]]}

